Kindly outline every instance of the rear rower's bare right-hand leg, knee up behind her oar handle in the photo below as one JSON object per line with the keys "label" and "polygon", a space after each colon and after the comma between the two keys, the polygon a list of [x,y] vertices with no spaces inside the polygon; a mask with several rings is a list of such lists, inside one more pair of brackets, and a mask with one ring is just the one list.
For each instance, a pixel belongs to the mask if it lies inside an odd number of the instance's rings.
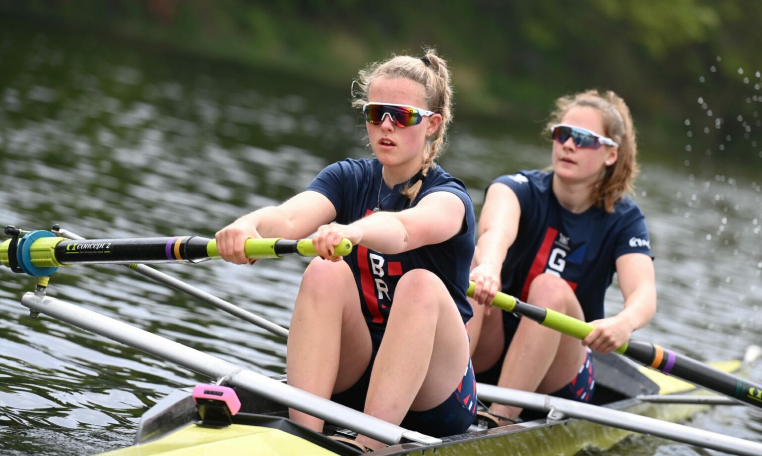
{"label": "rear rower's bare right-hand leg, knee up behind her oar handle", "polygon": [[[541,274],[530,286],[527,302],[584,320],[571,287],[557,276]],[[498,386],[549,394],[575,378],[586,352],[579,340],[522,318],[503,362]],[[490,409],[515,418],[518,407],[495,404]]]}

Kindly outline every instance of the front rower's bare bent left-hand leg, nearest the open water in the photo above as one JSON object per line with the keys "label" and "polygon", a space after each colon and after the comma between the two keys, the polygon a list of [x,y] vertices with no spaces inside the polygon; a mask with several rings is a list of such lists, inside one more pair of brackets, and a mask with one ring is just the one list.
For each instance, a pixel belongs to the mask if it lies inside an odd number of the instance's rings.
{"label": "front rower's bare bent left-hand leg, nearest the open water", "polygon": [[[291,317],[288,383],[326,399],[357,382],[370,362],[370,333],[347,263],[309,263]],[[322,432],[323,420],[289,410],[296,423]]]}

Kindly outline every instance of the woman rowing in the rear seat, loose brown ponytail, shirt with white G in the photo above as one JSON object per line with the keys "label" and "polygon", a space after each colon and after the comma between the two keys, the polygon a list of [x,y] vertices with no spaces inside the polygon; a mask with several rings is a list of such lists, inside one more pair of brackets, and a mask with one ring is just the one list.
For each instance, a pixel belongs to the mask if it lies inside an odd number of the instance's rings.
{"label": "woman rowing in the rear seat, loose brown ponytail, shirt with white G", "polygon": [[[479,218],[469,324],[477,380],[589,401],[591,349],[608,353],[656,311],[648,228],[626,198],[638,173],[632,117],[624,100],[585,91],[556,100],[549,132],[552,171],[501,176],[488,187]],[[624,309],[604,317],[617,273]],[[580,343],[516,314],[490,311],[502,289],[530,304],[590,321]],[[482,320],[483,318],[483,320]],[[521,409],[493,404],[507,423]]]}

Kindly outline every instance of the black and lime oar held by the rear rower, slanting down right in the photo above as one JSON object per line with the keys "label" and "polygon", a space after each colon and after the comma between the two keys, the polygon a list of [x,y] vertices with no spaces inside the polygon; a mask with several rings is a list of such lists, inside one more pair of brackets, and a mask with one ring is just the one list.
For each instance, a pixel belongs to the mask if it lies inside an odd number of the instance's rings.
{"label": "black and lime oar held by the rear rower, slanting down right", "polygon": [[[474,288],[475,283],[471,282],[467,292],[469,296],[473,296]],[[592,324],[552,309],[527,304],[503,292],[498,292],[495,295],[492,305],[504,311],[515,312],[528,317],[545,327],[579,340],[583,340],[594,329]],[[653,343],[629,340],[628,343],[615,351],[642,365],[664,372],[664,374],[674,375],[674,377],[690,381],[696,386],[705,387],[716,393],[735,397],[744,403],[762,408],[762,385],[712,368],[703,362],[698,362],[670,349],[664,349]]]}

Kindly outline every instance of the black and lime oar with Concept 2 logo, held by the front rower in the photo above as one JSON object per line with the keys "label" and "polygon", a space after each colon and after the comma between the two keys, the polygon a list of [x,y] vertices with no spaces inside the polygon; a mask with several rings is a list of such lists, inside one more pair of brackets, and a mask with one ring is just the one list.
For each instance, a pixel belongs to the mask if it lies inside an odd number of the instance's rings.
{"label": "black and lime oar with Concept 2 logo, held by the front rower", "polygon": [[[200,263],[219,258],[217,242],[200,236],[80,241],[62,239],[50,231],[31,231],[19,239],[18,247],[11,251],[12,241],[0,244],[0,263],[10,267],[12,260],[18,260],[21,269],[31,276],[49,276],[56,267],[72,264]],[[352,244],[347,239],[336,246],[338,256],[346,256],[351,251]],[[247,239],[244,252],[250,260],[291,254],[316,255],[312,239]]]}

